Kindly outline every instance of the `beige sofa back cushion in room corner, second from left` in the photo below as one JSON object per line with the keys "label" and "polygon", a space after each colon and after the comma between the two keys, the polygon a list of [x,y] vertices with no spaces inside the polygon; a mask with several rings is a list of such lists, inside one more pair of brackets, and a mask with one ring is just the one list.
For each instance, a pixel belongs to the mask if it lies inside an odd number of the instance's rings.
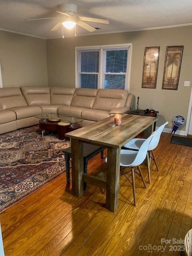
{"label": "beige sofa back cushion in room corner, second from left", "polygon": [[50,104],[49,87],[22,86],[21,91],[29,106]]}

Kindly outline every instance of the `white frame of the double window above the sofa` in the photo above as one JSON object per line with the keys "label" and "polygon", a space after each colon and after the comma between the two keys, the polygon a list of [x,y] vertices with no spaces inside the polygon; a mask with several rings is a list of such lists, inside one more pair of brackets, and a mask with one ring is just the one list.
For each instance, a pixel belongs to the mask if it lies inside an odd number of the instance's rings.
{"label": "white frame of the double window above the sofa", "polygon": [[[127,58],[127,72],[122,73],[125,74],[126,79],[125,79],[125,90],[129,90],[130,88],[130,72],[131,72],[131,57],[132,57],[132,43],[130,44],[108,44],[108,45],[97,45],[97,46],[78,46],[75,47],[75,87],[79,88],[78,84],[78,78],[77,78],[77,70],[78,70],[78,63],[77,63],[77,51],[78,50],[100,50],[99,54],[99,72],[98,73],[93,73],[93,74],[98,74],[98,89],[104,88],[103,86],[103,72],[105,67],[103,66],[103,52],[106,49],[120,49],[120,48],[129,48],[128,50],[128,58]],[[106,59],[106,58],[105,58]],[[84,74],[86,74],[84,72]],[[91,73],[88,73],[91,74]],[[109,74],[109,73],[107,73]],[[116,74],[116,73],[111,73],[111,74]],[[121,74],[121,73],[117,73]]]}

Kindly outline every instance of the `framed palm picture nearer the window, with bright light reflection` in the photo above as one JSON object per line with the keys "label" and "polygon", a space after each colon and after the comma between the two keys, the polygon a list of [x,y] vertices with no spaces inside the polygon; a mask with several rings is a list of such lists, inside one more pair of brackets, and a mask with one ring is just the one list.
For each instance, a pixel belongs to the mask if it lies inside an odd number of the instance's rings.
{"label": "framed palm picture nearer the window, with bright light reflection", "polygon": [[[146,47],[143,62],[142,88],[156,88],[160,46]],[[151,72],[153,72],[151,74]]]}

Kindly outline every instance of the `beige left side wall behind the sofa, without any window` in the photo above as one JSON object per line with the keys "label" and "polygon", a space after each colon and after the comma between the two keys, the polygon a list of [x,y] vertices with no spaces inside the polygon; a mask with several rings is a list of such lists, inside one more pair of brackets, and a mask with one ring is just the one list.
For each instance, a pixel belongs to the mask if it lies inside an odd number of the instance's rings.
{"label": "beige left side wall behind the sofa, without any window", "polygon": [[0,30],[3,87],[47,86],[46,40]]}

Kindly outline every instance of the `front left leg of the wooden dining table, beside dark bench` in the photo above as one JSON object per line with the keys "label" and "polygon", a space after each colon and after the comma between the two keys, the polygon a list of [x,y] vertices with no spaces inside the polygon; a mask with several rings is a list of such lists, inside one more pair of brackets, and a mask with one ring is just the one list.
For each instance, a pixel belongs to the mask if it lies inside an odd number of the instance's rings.
{"label": "front left leg of the wooden dining table, beside dark bench", "polygon": [[72,155],[72,193],[80,197],[84,193],[83,189],[83,142],[71,138],[71,155]]}

